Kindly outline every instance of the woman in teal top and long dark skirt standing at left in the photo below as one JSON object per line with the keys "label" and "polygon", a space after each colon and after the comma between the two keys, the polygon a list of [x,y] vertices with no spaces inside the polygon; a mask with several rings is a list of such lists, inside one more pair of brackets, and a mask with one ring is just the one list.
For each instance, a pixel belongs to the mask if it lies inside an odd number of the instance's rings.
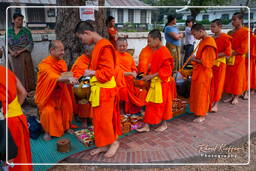
{"label": "woman in teal top and long dark skirt standing at left", "polygon": [[23,19],[20,13],[13,15],[13,27],[8,29],[8,52],[13,72],[29,92],[35,90],[36,81],[31,58],[34,43],[29,29],[22,26]]}

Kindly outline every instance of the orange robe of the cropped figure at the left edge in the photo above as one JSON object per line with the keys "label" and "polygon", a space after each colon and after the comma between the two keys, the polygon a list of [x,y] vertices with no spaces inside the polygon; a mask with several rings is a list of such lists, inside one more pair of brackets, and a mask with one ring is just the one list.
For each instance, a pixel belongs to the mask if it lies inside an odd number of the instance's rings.
{"label": "orange robe of the cropped figure at the left edge", "polygon": [[[6,102],[6,68],[0,65],[0,101],[3,105],[3,112],[6,115],[6,103],[10,104],[17,97],[16,76],[9,69],[8,72],[8,102]],[[9,117],[8,127],[12,134],[15,144],[18,147],[17,156],[13,163],[32,163],[30,150],[30,137],[27,127],[27,119],[23,113],[20,116]],[[1,137],[2,138],[2,137]],[[31,171],[31,165],[18,166],[9,168],[10,171]]]}

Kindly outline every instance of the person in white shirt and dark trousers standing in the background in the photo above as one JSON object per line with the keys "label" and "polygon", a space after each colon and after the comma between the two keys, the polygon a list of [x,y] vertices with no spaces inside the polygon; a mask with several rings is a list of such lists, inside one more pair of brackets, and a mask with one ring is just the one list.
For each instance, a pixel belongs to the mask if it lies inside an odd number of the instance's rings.
{"label": "person in white shirt and dark trousers standing in the background", "polygon": [[183,59],[183,63],[185,63],[187,61],[187,59],[189,58],[189,56],[192,54],[192,52],[194,50],[195,38],[191,34],[192,25],[193,25],[193,20],[187,19],[186,28],[185,28],[185,44],[184,44],[185,56]]}

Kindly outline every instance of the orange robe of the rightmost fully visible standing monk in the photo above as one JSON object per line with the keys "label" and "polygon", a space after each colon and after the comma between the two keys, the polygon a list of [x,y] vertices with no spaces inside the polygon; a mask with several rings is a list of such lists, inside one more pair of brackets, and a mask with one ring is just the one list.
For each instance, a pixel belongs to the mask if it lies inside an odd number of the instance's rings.
{"label": "orange robe of the rightmost fully visible standing monk", "polygon": [[245,55],[248,52],[248,29],[241,27],[232,36],[232,50],[235,56],[235,64],[227,65],[224,92],[233,95],[242,95],[245,91],[246,67]]}

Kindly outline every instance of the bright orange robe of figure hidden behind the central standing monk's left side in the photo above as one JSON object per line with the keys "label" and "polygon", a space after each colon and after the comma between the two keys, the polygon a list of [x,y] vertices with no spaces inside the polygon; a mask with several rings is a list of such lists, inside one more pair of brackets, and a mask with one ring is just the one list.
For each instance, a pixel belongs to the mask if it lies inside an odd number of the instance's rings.
{"label": "bright orange robe of figure hidden behind the central standing monk's left side", "polygon": [[150,69],[149,64],[152,61],[153,53],[154,51],[149,45],[147,45],[141,50],[139,56],[138,73],[144,72],[144,74],[147,75]]}

